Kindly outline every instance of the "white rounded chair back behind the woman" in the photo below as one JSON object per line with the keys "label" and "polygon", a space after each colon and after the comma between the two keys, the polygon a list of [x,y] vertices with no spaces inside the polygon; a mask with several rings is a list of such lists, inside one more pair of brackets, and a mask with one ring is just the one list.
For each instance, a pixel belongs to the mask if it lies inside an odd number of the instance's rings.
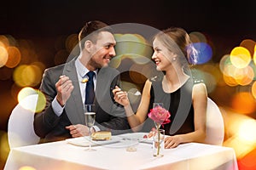
{"label": "white rounded chair back behind the woman", "polygon": [[224,142],[224,119],[218,105],[207,99],[207,144],[222,145]]}

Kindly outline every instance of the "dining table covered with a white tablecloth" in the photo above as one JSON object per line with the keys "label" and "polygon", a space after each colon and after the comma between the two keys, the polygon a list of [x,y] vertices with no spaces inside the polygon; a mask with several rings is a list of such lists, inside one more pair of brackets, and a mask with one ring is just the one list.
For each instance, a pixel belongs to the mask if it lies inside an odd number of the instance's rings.
{"label": "dining table covered with a white tablecloth", "polygon": [[[144,133],[125,133],[108,141],[80,137],[12,148],[5,170],[28,169],[174,169],[238,170],[236,153],[220,145],[186,143],[153,156],[153,141]],[[95,149],[85,150],[88,143]]]}

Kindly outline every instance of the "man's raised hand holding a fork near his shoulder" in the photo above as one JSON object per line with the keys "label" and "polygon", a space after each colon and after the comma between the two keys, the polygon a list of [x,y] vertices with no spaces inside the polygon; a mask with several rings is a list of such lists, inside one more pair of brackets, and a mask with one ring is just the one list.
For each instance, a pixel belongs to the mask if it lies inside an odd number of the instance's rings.
{"label": "man's raised hand holding a fork near his shoulder", "polygon": [[57,90],[56,99],[63,107],[73,91],[73,83],[69,77],[61,76],[59,81],[55,83],[55,88]]}

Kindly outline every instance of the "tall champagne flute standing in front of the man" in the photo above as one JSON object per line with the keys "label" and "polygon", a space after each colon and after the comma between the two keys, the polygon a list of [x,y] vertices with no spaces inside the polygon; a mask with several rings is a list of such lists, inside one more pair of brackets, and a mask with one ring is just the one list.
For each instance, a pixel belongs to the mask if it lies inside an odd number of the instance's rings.
{"label": "tall champagne flute standing in front of the man", "polygon": [[87,150],[95,150],[91,148],[91,128],[93,127],[95,123],[96,118],[96,112],[95,112],[95,105],[93,104],[85,104],[84,105],[84,117],[85,117],[85,125],[89,127],[89,138],[90,138],[90,144],[89,148]]}

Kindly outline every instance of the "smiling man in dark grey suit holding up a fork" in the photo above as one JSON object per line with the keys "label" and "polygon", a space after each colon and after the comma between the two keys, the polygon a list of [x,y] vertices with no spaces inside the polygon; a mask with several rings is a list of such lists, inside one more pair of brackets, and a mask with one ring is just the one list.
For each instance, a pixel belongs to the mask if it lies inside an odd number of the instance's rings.
{"label": "smiling man in dark grey suit holding up a fork", "polygon": [[[35,133],[49,142],[89,135],[84,121],[85,88],[92,72],[96,105],[96,126],[93,131],[110,130],[123,133],[129,128],[124,108],[113,100],[112,89],[119,85],[119,72],[108,67],[115,56],[116,42],[108,25],[95,20],[85,24],[79,32],[80,54],[66,65],[57,65],[44,71],[40,90],[44,92],[47,105],[35,114]],[[88,85],[89,87],[89,85]]]}

